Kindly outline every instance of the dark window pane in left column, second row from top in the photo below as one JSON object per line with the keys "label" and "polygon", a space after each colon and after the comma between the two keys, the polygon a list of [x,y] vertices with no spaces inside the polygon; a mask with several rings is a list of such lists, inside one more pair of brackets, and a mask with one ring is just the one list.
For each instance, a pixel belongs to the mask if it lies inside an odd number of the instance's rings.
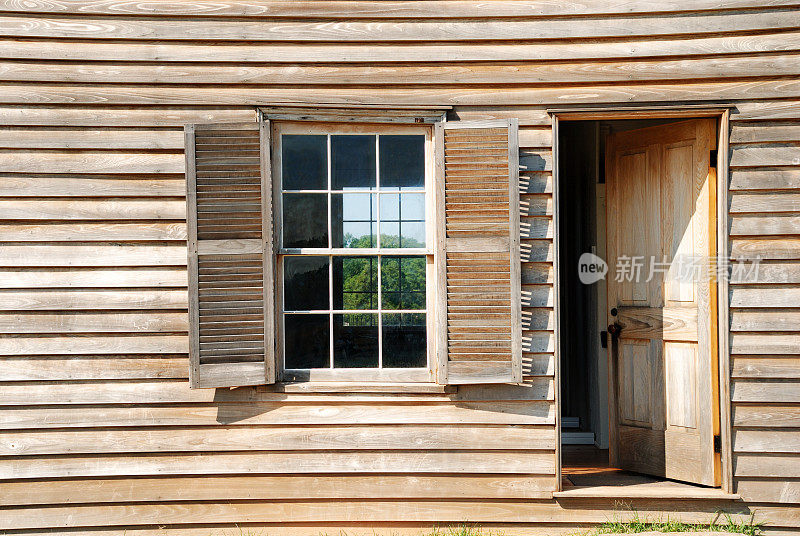
{"label": "dark window pane in left column, second row from top", "polygon": [[283,194],[283,247],[328,247],[328,194]]}

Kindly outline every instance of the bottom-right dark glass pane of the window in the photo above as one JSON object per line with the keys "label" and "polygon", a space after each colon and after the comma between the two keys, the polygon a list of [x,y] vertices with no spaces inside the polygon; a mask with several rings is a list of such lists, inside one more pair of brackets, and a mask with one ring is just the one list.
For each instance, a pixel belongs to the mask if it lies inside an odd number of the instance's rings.
{"label": "bottom-right dark glass pane of the window", "polygon": [[428,362],[425,313],[383,315],[383,367],[425,367]]}

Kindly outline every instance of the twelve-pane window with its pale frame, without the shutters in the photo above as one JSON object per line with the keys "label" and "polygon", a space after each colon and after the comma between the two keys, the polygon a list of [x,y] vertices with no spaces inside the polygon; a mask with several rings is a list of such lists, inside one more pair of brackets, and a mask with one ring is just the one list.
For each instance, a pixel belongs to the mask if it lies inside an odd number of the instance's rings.
{"label": "twelve-pane window with its pale frame, without the shutters", "polygon": [[429,381],[429,127],[273,133],[284,380]]}

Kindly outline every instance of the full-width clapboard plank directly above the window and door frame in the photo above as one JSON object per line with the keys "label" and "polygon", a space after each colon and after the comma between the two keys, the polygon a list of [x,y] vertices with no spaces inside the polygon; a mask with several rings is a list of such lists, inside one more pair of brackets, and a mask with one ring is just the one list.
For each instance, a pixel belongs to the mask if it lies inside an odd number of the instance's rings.
{"label": "full-width clapboard plank directly above the window and door frame", "polygon": [[[53,105],[53,104],[103,104],[103,105],[217,105],[241,106],[272,104],[316,104],[324,102],[337,105],[450,105],[450,106],[520,106],[562,105],[565,99],[576,102],[595,100],[603,103],[631,103],[653,101],[719,101],[752,99],[789,99],[796,97],[800,82],[786,80],[681,82],[664,84],[593,85],[591,87],[565,86],[556,88],[515,87],[378,87],[364,88],[207,88],[207,87],[156,87],[156,86],[60,86],[53,84],[0,84],[0,104]],[[800,115],[796,104],[783,104],[781,111],[773,114]],[[763,112],[762,112],[763,113]],[[124,159],[123,159],[124,160]],[[128,157],[131,164],[144,160]],[[12,160],[13,162],[14,160]],[[172,159],[179,165],[180,159]],[[73,162],[74,163],[74,162]],[[146,165],[146,160],[143,163]],[[108,163],[98,164],[98,168]],[[164,163],[167,168],[167,163]],[[161,169],[161,168],[159,168]],[[30,171],[25,168],[25,171]],[[100,172],[100,171],[98,171]]]}

